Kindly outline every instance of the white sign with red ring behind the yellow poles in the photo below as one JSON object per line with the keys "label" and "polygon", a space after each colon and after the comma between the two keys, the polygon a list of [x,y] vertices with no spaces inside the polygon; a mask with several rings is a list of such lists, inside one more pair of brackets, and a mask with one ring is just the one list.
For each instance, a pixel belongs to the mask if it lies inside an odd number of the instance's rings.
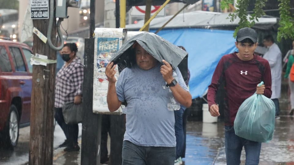
{"label": "white sign with red ring behind the yellow poles", "polygon": [[[151,16],[160,8],[160,6],[151,6]],[[145,16],[146,6],[133,6],[130,9],[131,16]],[[156,15],[165,16],[165,7]]]}

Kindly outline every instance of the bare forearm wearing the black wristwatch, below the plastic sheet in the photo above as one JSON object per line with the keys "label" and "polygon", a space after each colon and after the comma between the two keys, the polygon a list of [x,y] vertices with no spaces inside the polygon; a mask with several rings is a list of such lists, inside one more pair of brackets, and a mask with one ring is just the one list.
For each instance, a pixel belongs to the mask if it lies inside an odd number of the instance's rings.
{"label": "bare forearm wearing the black wristwatch, below the plastic sheet", "polygon": [[170,87],[172,95],[175,100],[186,108],[189,108],[192,104],[191,94],[184,90],[179,84]]}

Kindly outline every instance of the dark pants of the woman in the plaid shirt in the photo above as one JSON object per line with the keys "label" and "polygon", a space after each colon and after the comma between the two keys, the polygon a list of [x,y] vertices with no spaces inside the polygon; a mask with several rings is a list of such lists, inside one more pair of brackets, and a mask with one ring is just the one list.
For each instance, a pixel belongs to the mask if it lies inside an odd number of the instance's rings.
{"label": "dark pants of the woman in the plaid shirt", "polygon": [[69,144],[77,144],[77,137],[79,134],[79,126],[77,124],[66,124],[64,122],[62,108],[54,108],[55,110],[55,120],[63,130],[66,140],[68,140]]}

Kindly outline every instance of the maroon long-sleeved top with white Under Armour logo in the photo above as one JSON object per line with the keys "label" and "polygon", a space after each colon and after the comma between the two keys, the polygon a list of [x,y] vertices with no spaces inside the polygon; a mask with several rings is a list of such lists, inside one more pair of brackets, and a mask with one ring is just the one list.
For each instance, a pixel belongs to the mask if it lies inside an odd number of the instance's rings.
{"label": "maroon long-sleeved top with white Under Armour logo", "polygon": [[264,82],[266,89],[264,96],[270,98],[272,95],[271,73],[269,62],[262,57],[254,55],[252,60],[243,61],[239,59],[237,52],[224,55],[212,76],[211,84],[208,86],[209,108],[216,103],[218,86],[224,82],[224,124],[233,126],[240,105],[248,97],[256,92],[257,84]]}

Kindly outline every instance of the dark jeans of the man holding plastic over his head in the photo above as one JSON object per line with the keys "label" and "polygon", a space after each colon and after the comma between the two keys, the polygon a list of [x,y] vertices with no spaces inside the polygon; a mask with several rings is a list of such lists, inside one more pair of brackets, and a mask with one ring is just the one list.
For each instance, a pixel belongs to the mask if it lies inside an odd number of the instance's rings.
{"label": "dark jeans of the man holding plastic over his head", "polygon": [[122,165],[175,164],[175,147],[143,147],[123,141]]}

